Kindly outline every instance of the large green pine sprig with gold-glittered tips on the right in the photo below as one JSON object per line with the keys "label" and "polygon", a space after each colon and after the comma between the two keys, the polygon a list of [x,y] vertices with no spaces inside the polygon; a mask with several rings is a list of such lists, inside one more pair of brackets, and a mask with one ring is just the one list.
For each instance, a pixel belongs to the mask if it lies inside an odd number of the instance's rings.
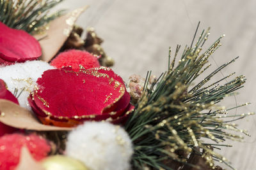
{"label": "large green pine sprig with gold-glittered tips on the right", "polygon": [[[125,124],[125,130],[134,143],[135,153],[132,157],[134,168],[142,169],[144,166],[149,166],[156,169],[172,169],[168,166],[170,160],[181,162],[180,167],[182,167],[189,163],[189,153],[195,151],[195,148],[204,150],[204,153],[197,154],[204,158],[209,167],[214,167],[214,160],[230,166],[225,157],[216,153],[215,149],[219,146],[230,146],[223,143],[226,139],[241,140],[243,137],[236,132],[244,131],[237,129],[235,124],[230,124],[236,119],[225,119],[237,116],[239,117],[237,119],[240,119],[253,113],[227,115],[227,111],[239,106],[227,110],[217,106],[224,97],[235,95],[236,91],[243,87],[244,76],[238,76],[223,85],[218,84],[227,80],[234,74],[232,73],[207,85],[211,82],[212,76],[238,57],[218,67],[202,81],[193,85],[196,78],[210,66],[206,66],[208,59],[220,46],[220,39],[223,37],[217,39],[202,53],[202,46],[208,36],[209,29],[200,34],[195,46],[193,39],[191,46],[186,46],[184,49],[175,67],[175,59],[180,49],[178,45],[172,63],[169,55],[168,71],[163,73],[152,87],[147,87],[151,72],[148,73],[143,96]],[[230,133],[229,130],[236,132]],[[212,148],[215,148],[214,151]],[[183,154],[178,154],[179,151]]]}

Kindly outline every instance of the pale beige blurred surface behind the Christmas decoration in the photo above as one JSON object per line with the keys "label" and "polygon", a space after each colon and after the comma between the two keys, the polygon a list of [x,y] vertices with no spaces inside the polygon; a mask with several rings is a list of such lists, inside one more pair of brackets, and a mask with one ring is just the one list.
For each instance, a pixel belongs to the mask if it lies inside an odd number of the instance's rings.
{"label": "pale beige blurred surface behind the Christmas decoration", "polygon": [[[57,8],[75,9],[89,4],[77,24],[95,27],[104,42],[104,49],[116,61],[113,69],[127,80],[133,73],[145,76],[148,70],[159,75],[167,68],[168,46],[190,44],[198,21],[199,30],[211,26],[208,43],[225,34],[223,46],[210,59],[212,69],[224,62],[240,58],[224,75],[236,71],[244,74],[247,83],[239,96],[229,97],[225,104],[236,106],[252,101],[250,106],[229,114],[247,113],[256,109],[256,1],[231,0],[66,0]],[[222,78],[219,74],[214,80]],[[221,153],[236,169],[256,169],[256,116],[239,121],[252,137],[244,143],[232,143]]]}

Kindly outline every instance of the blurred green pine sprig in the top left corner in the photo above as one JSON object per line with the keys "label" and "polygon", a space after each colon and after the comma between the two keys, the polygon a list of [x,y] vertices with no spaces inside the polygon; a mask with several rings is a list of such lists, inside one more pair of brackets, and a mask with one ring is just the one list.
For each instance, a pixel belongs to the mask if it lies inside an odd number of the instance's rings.
{"label": "blurred green pine sprig in the top left corner", "polygon": [[49,10],[63,0],[0,0],[0,21],[15,29],[29,33],[61,15],[58,11],[51,15]]}

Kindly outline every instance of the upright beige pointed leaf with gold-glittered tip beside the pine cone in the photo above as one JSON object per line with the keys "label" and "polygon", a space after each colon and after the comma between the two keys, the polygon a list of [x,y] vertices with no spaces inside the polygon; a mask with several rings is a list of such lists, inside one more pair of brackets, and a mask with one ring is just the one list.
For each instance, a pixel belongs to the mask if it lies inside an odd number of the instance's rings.
{"label": "upright beige pointed leaf with gold-glittered tip beside the pine cone", "polygon": [[67,13],[67,15],[56,18],[50,22],[49,29],[45,31],[45,34],[34,35],[36,39],[40,39],[39,43],[42,48],[41,60],[49,62],[56,55],[72,31],[77,18],[87,8],[88,6],[77,8]]}

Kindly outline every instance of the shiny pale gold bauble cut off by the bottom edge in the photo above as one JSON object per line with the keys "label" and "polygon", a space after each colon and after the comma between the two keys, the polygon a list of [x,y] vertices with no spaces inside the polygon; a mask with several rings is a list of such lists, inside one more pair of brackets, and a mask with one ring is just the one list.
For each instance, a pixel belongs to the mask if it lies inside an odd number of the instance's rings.
{"label": "shiny pale gold bauble cut off by the bottom edge", "polygon": [[47,157],[41,164],[45,170],[88,170],[82,162],[63,155]]}

